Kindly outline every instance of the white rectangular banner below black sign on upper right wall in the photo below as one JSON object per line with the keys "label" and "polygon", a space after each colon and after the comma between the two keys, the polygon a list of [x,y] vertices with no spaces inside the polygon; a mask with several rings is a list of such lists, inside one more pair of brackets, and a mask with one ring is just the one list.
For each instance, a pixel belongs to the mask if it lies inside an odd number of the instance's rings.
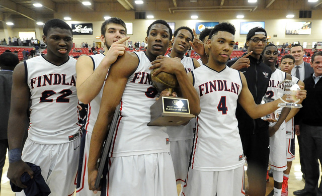
{"label": "white rectangular banner below black sign on upper right wall", "polygon": [[311,35],[312,22],[287,22],[286,35]]}

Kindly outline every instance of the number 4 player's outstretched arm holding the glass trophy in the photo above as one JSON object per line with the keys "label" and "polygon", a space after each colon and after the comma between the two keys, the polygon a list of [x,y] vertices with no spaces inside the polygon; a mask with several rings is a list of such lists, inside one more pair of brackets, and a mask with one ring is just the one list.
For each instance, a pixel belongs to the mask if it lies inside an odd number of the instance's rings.
{"label": "number 4 player's outstretched arm holding the glass trophy", "polygon": [[[279,103],[282,103],[280,99],[267,104],[257,105],[254,102],[252,93],[248,89],[247,81],[244,74],[240,73],[240,77],[241,77],[241,81],[243,82],[243,88],[241,89],[241,92],[239,94],[238,103],[241,105],[241,107],[244,108],[244,110],[251,118],[253,119],[261,118],[267,114],[274,112],[279,108],[277,107],[277,105]],[[306,91],[300,90],[300,92],[298,92],[296,97],[301,100],[305,99]]]}

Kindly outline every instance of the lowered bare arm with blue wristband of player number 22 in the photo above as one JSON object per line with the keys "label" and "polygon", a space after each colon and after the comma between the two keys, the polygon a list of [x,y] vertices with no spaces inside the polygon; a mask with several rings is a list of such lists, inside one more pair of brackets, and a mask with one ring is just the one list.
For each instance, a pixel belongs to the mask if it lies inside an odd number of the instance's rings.
{"label": "lowered bare arm with blue wristband of player number 22", "polygon": [[11,94],[11,108],[8,121],[9,143],[9,168],[8,178],[17,186],[25,188],[20,177],[28,172],[33,177],[33,171],[21,160],[22,140],[25,134],[27,110],[29,105],[29,88],[26,83],[25,66],[20,63],[13,73],[13,85]]}

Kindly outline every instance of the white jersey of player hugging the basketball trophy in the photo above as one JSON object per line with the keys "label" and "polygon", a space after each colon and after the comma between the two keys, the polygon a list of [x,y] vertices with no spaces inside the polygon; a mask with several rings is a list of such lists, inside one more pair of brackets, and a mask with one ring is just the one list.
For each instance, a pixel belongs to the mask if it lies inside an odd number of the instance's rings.
{"label": "white jersey of player hugging the basketball trophy", "polygon": [[150,79],[151,62],[144,52],[135,54],[139,64],[128,78],[122,95],[121,117],[113,136],[111,157],[170,152],[166,127],[147,126],[157,90]]}

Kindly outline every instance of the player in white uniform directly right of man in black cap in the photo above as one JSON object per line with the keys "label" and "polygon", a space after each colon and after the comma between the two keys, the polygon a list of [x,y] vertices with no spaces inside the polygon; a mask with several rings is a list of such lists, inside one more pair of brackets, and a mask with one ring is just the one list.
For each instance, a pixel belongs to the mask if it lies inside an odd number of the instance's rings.
{"label": "player in white uniform directly right of man in black cap", "polygon": [[[278,56],[277,46],[274,44],[269,44],[265,46],[263,51],[263,61],[272,69],[272,75],[268,83],[267,91],[265,97],[278,100],[277,88],[278,84],[284,79],[291,80],[290,74],[276,69],[276,61]],[[274,189],[270,195],[280,196],[282,192],[282,182],[283,182],[283,171],[287,169],[286,161],[286,133],[285,133],[285,119],[290,112],[291,108],[279,108],[276,111],[278,120],[274,120],[274,123],[269,125],[269,135],[270,135],[270,156],[269,165],[273,170],[274,178]],[[273,120],[273,119],[271,119]]]}

